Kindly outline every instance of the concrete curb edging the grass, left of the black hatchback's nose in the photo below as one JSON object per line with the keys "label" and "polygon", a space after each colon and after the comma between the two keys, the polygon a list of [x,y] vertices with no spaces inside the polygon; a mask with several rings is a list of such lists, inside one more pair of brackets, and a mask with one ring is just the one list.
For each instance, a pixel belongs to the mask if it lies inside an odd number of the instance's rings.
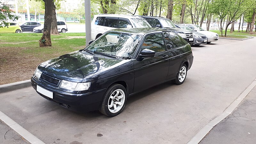
{"label": "concrete curb edging the grass, left of the black hatchback's nose", "polygon": [[0,85],[0,93],[14,91],[31,86],[30,80]]}

